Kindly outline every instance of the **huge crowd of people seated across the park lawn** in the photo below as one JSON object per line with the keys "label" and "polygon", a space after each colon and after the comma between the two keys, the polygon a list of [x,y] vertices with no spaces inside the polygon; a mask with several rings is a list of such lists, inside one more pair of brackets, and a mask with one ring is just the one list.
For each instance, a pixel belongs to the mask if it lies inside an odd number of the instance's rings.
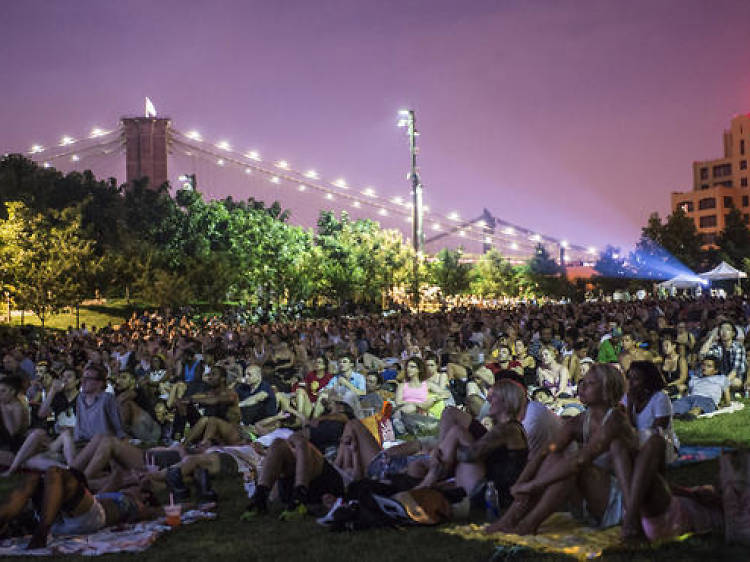
{"label": "huge crowd of people seated across the park lawn", "polygon": [[0,524],[31,503],[37,547],[152,516],[161,487],[216,501],[211,479],[238,470],[226,451],[250,447],[248,520],[279,502],[358,528],[366,498],[416,491],[491,513],[489,532],[571,506],[628,539],[716,530],[717,495],[666,483],[672,419],[745,395],[749,319],[737,296],[9,331],[0,464],[28,476]]}

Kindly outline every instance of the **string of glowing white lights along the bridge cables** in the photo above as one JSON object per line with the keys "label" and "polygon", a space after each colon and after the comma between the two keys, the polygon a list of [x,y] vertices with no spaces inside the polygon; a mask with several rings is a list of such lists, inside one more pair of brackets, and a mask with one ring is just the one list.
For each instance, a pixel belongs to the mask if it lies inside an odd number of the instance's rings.
{"label": "string of glowing white lights along the bridge cables", "polygon": [[[371,186],[355,187],[348,184],[344,178],[328,182],[323,180],[316,170],[298,170],[292,167],[289,161],[283,159],[272,160],[270,163],[273,168],[270,168],[264,165],[264,160],[257,150],[237,151],[226,140],[211,143],[204,140],[202,135],[194,130],[183,133],[170,129],[170,141],[172,147],[180,149],[188,156],[201,157],[220,167],[239,167],[246,175],[257,172],[275,185],[282,182],[294,184],[299,192],[319,192],[327,201],[341,199],[355,209],[361,209],[363,206],[373,208],[381,217],[393,214],[403,217],[408,222],[413,220],[410,202],[404,201],[401,196],[382,197]],[[87,135],[79,137],[64,135],[57,143],[49,146],[34,144],[28,154],[31,158],[42,161],[44,167],[50,167],[53,161],[62,158],[77,163],[94,152],[100,154],[120,152],[124,147],[124,142],[122,130],[119,127],[108,130],[94,127]],[[547,243],[565,248],[568,252],[576,252],[580,261],[592,261],[597,254],[594,246],[569,244],[565,240],[543,236],[502,219],[496,219],[499,232],[489,234],[488,225],[484,221],[462,225],[463,219],[456,211],[443,214],[425,205],[424,213],[429,215],[430,228],[435,233],[444,232],[444,229],[447,229],[451,235],[455,234],[463,240],[500,245],[512,252],[522,252],[535,248],[539,243]]]}

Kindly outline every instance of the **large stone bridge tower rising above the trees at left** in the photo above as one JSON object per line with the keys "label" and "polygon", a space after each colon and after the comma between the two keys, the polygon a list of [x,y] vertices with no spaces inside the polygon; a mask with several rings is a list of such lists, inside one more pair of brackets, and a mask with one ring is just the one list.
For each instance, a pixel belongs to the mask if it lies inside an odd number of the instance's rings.
{"label": "large stone bridge tower rising above the trees at left", "polygon": [[131,184],[148,178],[150,189],[167,181],[167,148],[171,122],[165,117],[123,117],[125,177]]}

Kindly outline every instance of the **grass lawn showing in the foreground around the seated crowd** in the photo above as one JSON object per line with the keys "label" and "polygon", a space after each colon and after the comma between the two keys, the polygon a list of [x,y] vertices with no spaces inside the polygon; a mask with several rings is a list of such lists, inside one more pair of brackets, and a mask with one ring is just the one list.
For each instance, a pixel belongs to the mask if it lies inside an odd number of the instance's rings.
{"label": "grass lawn showing in the foreground around the seated crowd", "polygon": [[[731,440],[747,445],[750,444],[750,407],[712,419],[677,422],[676,426],[680,439],[686,444],[721,444]],[[668,477],[676,484],[690,486],[713,483],[717,474],[718,461],[714,460],[672,469]],[[17,482],[18,477],[0,481],[0,497],[4,497]],[[239,520],[246,503],[239,478],[220,480],[216,482],[216,489],[220,496],[220,511],[215,521],[181,527],[161,537],[141,554],[107,555],[100,559],[184,561],[211,557],[217,561],[486,561],[492,559],[495,552],[491,542],[447,535],[441,532],[441,527],[332,533],[319,527],[312,518],[283,523],[268,516],[245,523]],[[69,556],[56,559],[82,558]],[[513,559],[562,558],[522,551],[514,555]],[[671,559],[745,560],[747,551],[743,547],[725,545],[721,537],[690,537],[682,542],[661,546],[618,547],[605,551],[603,559],[623,562]]]}

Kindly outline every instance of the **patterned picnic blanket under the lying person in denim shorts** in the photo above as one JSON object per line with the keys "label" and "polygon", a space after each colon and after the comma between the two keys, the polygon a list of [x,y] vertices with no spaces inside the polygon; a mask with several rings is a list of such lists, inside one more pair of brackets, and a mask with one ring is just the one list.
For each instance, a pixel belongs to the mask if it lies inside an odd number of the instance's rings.
{"label": "patterned picnic blanket under the lying person in denim shorts", "polygon": [[[189,525],[196,521],[215,518],[216,513],[194,509],[182,514],[182,524]],[[154,521],[107,527],[90,535],[52,537],[46,548],[35,550],[26,550],[29,536],[14,537],[0,541],[0,556],[57,556],[62,554],[99,556],[113,552],[141,552],[171,529],[172,527],[168,526],[162,517]]]}

